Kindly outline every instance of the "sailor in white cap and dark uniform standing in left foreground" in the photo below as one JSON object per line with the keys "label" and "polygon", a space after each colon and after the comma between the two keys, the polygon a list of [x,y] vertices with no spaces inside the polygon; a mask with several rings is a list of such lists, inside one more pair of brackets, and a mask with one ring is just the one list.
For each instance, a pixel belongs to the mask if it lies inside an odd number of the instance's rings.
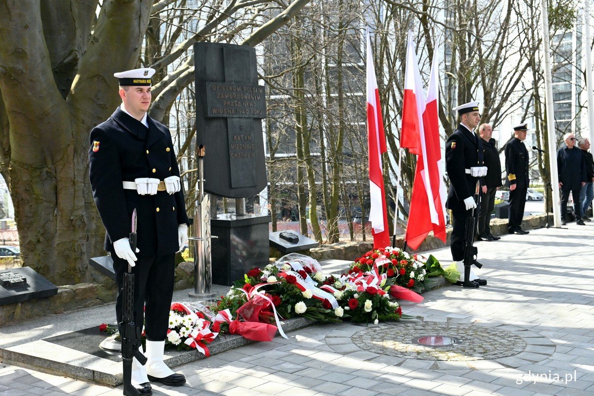
{"label": "sailor in white cap and dark uniform standing in left foreground", "polygon": [[[188,216],[179,168],[168,128],[147,115],[154,69],[114,74],[122,104],[90,134],[89,165],[93,198],[106,229],[118,282],[116,316],[122,322],[122,286],[128,264],[135,275],[134,321],[146,332],[146,366],[132,362],[132,384],[151,394],[151,381],[185,384],[163,362],[173,296],[174,259],[188,240]],[[137,249],[128,236],[137,211]],[[143,312],[144,309],[144,312]]]}

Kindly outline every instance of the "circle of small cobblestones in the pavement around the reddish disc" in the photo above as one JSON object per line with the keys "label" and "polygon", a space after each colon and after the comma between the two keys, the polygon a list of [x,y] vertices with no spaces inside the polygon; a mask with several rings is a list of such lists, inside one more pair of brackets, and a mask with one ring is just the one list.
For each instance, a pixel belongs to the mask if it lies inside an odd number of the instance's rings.
{"label": "circle of small cobblestones in the pavement around the reddish disc", "polygon": [[[447,335],[451,345],[426,345],[422,338]],[[419,360],[493,360],[514,356],[526,348],[526,341],[507,330],[481,325],[447,322],[409,322],[365,328],[352,337],[353,344],[377,354]],[[430,341],[430,340],[428,340]],[[434,338],[434,342],[438,342]]]}

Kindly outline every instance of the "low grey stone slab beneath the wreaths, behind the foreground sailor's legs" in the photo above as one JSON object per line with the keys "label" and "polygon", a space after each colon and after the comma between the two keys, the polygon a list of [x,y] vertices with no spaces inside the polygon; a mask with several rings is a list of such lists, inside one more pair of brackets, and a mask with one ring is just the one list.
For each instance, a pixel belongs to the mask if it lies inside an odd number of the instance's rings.
{"label": "low grey stone slab beneath the wreaths, behind the foreground sailor's legs", "polygon": [[[284,321],[282,326],[285,332],[289,332],[310,324],[312,321],[309,319],[295,318]],[[0,357],[5,364],[115,387],[122,384],[122,359],[99,348],[106,337],[108,334],[100,332],[96,326],[0,349]],[[208,349],[212,356],[252,343],[254,341],[241,335],[226,334],[208,344]],[[208,358],[197,350],[165,350],[165,363],[170,368],[200,359]]]}

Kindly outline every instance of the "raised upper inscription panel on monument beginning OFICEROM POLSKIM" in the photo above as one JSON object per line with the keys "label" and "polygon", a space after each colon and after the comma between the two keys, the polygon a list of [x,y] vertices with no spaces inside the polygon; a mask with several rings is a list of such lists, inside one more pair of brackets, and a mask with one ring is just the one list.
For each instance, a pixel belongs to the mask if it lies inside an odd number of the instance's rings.
{"label": "raised upper inscription panel on monument beginning OFICEROM POLSKIM", "polygon": [[207,82],[206,110],[208,117],[266,118],[264,87]]}

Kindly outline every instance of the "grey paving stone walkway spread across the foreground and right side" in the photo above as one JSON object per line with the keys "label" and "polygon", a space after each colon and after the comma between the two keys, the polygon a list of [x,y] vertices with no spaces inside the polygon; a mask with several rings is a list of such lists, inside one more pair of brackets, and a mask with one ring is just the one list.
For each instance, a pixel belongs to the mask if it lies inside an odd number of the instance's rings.
{"label": "grey paving stone walkway spread across the foreground and right side", "polygon": [[[484,269],[477,273],[488,286],[425,293],[424,302],[404,304],[405,313],[419,316],[415,321],[313,325],[290,332],[288,340],[276,337],[181,366],[188,383],[154,386],[153,394],[594,395],[594,224],[586,224],[478,243]],[[449,249],[432,254],[451,261]],[[112,309],[62,319],[89,322]],[[0,328],[0,345],[50,332],[47,322],[45,328],[41,319]],[[440,334],[460,338],[459,349],[412,343]],[[0,364],[0,395],[65,394],[122,391]]]}

